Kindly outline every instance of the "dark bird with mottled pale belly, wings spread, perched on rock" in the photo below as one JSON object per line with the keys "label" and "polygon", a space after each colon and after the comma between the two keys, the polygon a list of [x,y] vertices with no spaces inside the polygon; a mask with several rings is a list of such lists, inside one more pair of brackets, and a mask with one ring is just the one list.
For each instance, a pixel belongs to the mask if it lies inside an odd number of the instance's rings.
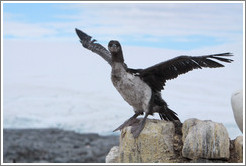
{"label": "dark bird with mottled pale belly, wings spread, perched on rock", "polygon": [[[159,113],[162,120],[180,122],[177,113],[168,107],[161,96],[167,80],[175,79],[194,69],[224,67],[217,61],[225,63],[233,61],[228,58],[233,56],[230,52],[202,56],[181,55],[145,69],[132,69],[128,68],[124,61],[119,41],[109,41],[107,50],[85,32],[77,28],[75,31],[84,48],[101,56],[111,66],[111,81],[114,87],[134,110],[134,115],[114,131],[132,126],[131,133],[134,138],[138,138],[147,117],[154,113]],[[137,119],[143,114],[144,117],[141,120]]]}

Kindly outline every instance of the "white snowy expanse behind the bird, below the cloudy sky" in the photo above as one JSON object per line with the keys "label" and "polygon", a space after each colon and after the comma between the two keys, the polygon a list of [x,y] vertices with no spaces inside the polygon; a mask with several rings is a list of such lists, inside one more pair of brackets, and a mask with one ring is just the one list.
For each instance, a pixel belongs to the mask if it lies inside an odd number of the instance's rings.
{"label": "white snowy expanse behind the bird, below the cloudy sky", "polygon": [[[232,52],[220,69],[194,70],[170,80],[162,91],[183,122],[223,123],[231,138],[242,133],[234,120],[231,94],[243,88],[242,44],[191,51],[123,46],[129,67],[144,68],[179,55]],[[74,42],[5,40],[3,43],[3,127],[58,127],[80,133],[112,131],[133,115],[110,80],[110,66]],[[158,115],[154,118],[159,118]]]}

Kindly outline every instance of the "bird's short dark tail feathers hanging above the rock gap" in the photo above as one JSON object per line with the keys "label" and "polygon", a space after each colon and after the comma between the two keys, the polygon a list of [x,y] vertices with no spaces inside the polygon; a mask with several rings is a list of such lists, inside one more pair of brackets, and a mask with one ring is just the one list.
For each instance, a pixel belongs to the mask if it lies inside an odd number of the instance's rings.
{"label": "bird's short dark tail feathers hanging above the rock gap", "polygon": [[159,115],[162,120],[167,121],[180,121],[177,113],[168,108],[167,106],[162,106],[159,110]]}

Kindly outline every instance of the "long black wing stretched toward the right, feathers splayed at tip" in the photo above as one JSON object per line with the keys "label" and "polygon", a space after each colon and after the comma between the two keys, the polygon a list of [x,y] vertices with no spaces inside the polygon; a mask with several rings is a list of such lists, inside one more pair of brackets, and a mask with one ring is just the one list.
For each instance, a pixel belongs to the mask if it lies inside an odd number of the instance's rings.
{"label": "long black wing stretched toward the right, feathers splayed at tip", "polygon": [[225,57],[232,56],[231,53],[204,55],[204,56],[179,56],[168,61],[156,64],[139,71],[139,76],[154,90],[161,91],[166,80],[174,79],[180,74],[187,73],[193,69],[217,68],[224,65],[214,61],[230,63],[233,60]]}

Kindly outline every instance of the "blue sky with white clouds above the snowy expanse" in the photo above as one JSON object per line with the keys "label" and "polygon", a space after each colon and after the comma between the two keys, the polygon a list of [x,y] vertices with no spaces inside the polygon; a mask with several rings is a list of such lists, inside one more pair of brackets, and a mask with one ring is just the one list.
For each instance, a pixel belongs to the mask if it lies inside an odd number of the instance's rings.
{"label": "blue sky with white clouds above the snowy expanse", "polygon": [[4,39],[77,41],[176,50],[242,42],[242,3],[4,3]]}

